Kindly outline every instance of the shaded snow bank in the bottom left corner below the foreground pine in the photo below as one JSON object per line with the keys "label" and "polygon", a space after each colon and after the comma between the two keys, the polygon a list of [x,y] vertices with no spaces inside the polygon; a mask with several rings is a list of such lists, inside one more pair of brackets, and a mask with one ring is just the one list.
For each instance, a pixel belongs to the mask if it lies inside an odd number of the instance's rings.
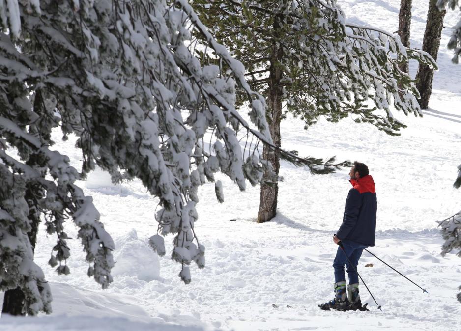
{"label": "shaded snow bank in the bottom left corner below the foreground pine", "polygon": [[[13,331],[198,331],[202,328],[167,325],[152,318],[126,294],[92,291],[63,283],[51,283],[53,316],[18,318],[2,316],[1,330]],[[123,316],[123,317],[120,317]],[[4,329],[6,327],[6,329]]]}

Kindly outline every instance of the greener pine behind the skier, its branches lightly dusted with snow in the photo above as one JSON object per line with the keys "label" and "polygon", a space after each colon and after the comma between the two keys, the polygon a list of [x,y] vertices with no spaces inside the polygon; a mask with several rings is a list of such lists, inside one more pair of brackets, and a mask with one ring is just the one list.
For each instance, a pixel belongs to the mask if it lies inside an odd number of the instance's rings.
{"label": "greener pine behind the skier, its branches lightly dusted with snow", "polygon": [[[404,127],[391,105],[421,114],[419,94],[399,63],[414,58],[435,66],[432,58],[385,31],[347,23],[334,0],[197,0],[193,5],[217,41],[247,68],[250,87],[266,97],[277,146],[284,107],[306,128],[319,116],[336,122],[354,114],[357,122],[390,135]],[[277,172],[277,153],[264,149],[263,156]],[[277,193],[277,186],[261,185],[259,222],[275,216]]]}

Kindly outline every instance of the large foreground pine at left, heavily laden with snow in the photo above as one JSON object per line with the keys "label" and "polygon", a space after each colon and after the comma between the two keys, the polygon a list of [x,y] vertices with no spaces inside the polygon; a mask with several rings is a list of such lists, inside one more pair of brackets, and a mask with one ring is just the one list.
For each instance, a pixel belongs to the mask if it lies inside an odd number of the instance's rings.
{"label": "large foreground pine at left, heavily laden with snow", "polygon": [[[113,281],[113,240],[75,180],[99,166],[114,182],[138,178],[159,198],[150,245],[166,253],[160,235],[174,234],[172,259],[191,281],[189,264],[204,267],[195,231],[198,187],[221,171],[241,190],[271,165],[255,150],[244,159],[237,132],[254,136],[296,165],[331,172],[348,165],[301,159],[275,146],[265,100],[244,79],[245,69],[219,45],[185,0],[0,2],[0,290],[13,290],[3,311],[51,312],[51,292],[33,262],[38,222],[57,244],[49,264],[69,274],[65,221],[103,288]],[[225,65],[200,64],[191,29]],[[251,105],[252,126],[235,110],[235,86]],[[256,127],[256,129],[255,129]],[[77,135],[82,171],[50,148],[51,131]],[[210,135],[211,133],[211,135]],[[206,137],[205,137],[206,136]],[[213,149],[204,148],[205,139]],[[17,150],[18,155],[14,154]],[[219,182],[216,195],[222,201]],[[19,291],[19,294],[18,294]],[[20,297],[23,295],[23,297]]]}

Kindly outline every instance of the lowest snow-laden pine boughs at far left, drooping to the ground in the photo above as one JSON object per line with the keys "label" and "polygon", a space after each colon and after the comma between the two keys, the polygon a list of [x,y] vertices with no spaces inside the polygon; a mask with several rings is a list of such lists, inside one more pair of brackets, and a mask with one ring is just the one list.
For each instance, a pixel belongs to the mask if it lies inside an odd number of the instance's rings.
{"label": "lowest snow-laden pine boughs at far left, drooping to the ground", "polygon": [[[10,85],[3,85],[4,91],[14,96],[16,92]],[[35,236],[30,238],[34,215],[43,215],[47,232],[56,233],[57,244],[51,252],[50,265],[58,274],[68,274],[66,259],[70,256],[64,232],[65,219],[72,217],[79,227],[79,238],[87,253],[89,267],[95,270],[91,276],[103,288],[112,281],[110,270],[114,266],[111,251],[114,243],[97,220],[99,214],[92,204],[91,197],[85,197],[81,189],[73,183],[79,178],[78,172],[71,167],[67,156],[49,150],[45,139],[38,140],[34,135],[21,128],[21,118],[29,118],[36,113],[32,109],[22,108],[15,111],[15,106],[27,105],[28,96],[13,98],[13,103],[4,104],[2,115],[13,116],[12,119],[0,117],[0,137],[3,146],[14,146],[21,159],[18,161],[0,150],[1,198],[0,198],[0,290],[19,287],[24,293],[23,312],[35,315],[39,311],[51,312],[51,292],[44,279],[42,270],[33,262]],[[8,107],[10,106],[10,107]],[[8,111],[9,110],[9,111]],[[16,122],[16,123],[15,123]],[[42,127],[41,129],[46,130]],[[51,127],[48,128],[51,130]],[[31,162],[41,159],[43,162]],[[50,175],[52,180],[45,179]]]}

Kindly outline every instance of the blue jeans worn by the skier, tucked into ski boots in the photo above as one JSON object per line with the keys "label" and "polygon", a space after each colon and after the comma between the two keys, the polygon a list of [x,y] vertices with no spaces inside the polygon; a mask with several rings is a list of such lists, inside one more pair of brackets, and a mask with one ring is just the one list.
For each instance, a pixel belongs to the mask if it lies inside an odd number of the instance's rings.
{"label": "blue jeans worn by the skier, tucked into ski boots", "polygon": [[[335,261],[333,262],[333,268],[335,269],[335,283],[346,280],[346,275],[344,273],[344,265],[346,265],[347,276],[349,276],[349,284],[356,284],[359,282],[359,277],[355,271],[355,268],[357,268],[357,265],[359,264],[359,259],[360,256],[362,256],[363,249],[367,248],[368,246],[353,242],[348,239],[342,240],[342,243],[344,246],[344,251],[338,245]],[[353,266],[351,266],[349,261],[347,261],[346,254]]]}

